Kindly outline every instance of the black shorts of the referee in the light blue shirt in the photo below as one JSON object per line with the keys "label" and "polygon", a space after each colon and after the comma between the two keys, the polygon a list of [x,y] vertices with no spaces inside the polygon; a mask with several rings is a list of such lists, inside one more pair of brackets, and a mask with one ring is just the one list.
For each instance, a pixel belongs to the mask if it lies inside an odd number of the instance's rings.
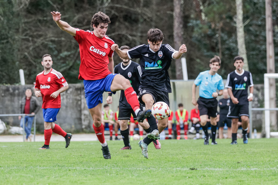
{"label": "black shorts of the referee in the light blue shirt", "polygon": [[208,115],[209,117],[217,116],[218,101],[216,98],[199,97],[197,103],[198,103],[200,116],[202,115]]}

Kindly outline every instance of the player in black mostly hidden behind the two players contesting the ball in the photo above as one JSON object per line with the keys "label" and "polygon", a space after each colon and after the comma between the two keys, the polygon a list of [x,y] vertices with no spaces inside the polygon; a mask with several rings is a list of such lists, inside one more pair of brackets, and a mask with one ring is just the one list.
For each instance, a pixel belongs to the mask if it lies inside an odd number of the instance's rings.
{"label": "player in black mostly hidden behind the two players contesting the ball", "polygon": [[[121,50],[128,51],[130,49],[129,46],[121,46]],[[139,85],[141,83],[141,67],[136,62],[131,61],[130,59],[123,59],[123,62],[116,65],[114,68],[114,74],[120,74],[124,76],[126,79],[130,81],[131,86],[133,87],[134,91],[139,95]],[[109,93],[109,96],[106,99],[108,104],[112,103],[112,93]],[[145,108],[145,107],[144,107]],[[122,135],[124,141],[124,147],[121,150],[131,149],[129,143],[129,131],[128,131],[128,120],[130,120],[131,114],[133,115],[133,119],[137,120],[136,114],[134,113],[131,106],[128,104],[126,97],[124,96],[124,91],[121,90],[120,101],[119,101],[119,115],[118,120],[120,120],[120,133]],[[139,122],[139,124],[143,127],[146,133],[151,132],[150,125],[147,121]],[[160,149],[161,144],[158,140],[153,141],[154,146],[156,149]]]}

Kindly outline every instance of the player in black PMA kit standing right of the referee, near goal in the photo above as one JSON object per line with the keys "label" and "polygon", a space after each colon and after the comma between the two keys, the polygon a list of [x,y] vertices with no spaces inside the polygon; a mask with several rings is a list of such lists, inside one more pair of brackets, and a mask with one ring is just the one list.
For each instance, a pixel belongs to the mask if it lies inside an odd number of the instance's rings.
{"label": "player in black PMA kit standing right of the referee, near goal", "polygon": [[[237,132],[238,132],[238,118],[242,120],[242,134],[243,143],[248,143],[247,130],[249,119],[249,101],[253,100],[254,84],[252,80],[251,72],[244,71],[242,69],[244,63],[241,56],[234,58],[235,71],[228,74],[227,83],[225,85],[228,88],[230,95],[230,108],[227,117],[232,118],[232,142],[231,145],[238,144]],[[250,86],[250,94],[248,96],[248,86]]]}

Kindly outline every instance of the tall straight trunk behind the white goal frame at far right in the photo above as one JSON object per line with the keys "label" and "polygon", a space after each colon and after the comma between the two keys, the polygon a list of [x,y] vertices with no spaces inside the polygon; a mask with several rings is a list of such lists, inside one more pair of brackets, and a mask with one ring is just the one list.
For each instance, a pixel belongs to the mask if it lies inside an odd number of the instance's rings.
{"label": "tall straight trunk behind the white goal frame at far right", "polygon": [[[275,57],[273,45],[273,27],[272,27],[272,2],[265,1],[265,19],[266,19],[266,45],[267,45],[267,73],[275,73]],[[269,106],[276,107],[276,89],[275,79],[269,79]],[[270,111],[270,129],[277,130],[276,111]]]}

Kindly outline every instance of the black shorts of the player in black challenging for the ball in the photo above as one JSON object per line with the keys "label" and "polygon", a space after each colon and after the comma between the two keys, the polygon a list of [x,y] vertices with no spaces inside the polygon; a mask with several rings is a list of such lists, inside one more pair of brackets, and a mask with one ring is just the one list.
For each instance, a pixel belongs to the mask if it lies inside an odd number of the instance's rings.
{"label": "black shorts of the player in black challenging for the ball", "polygon": [[139,91],[140,91],[140,93],[139,93],[138,100],[143,105],[145,105],[145,103],[142,101],[142,96],[144,94],[150,94],[150,95],[152,95],[152,97],[154,99],[154,103],[158,102],[158,101],[163,101],[170,107],[168,92],[158,91],[158,90],[155,90],[153,88],[145,88],[145,87],[144,88],[139,88]]}

